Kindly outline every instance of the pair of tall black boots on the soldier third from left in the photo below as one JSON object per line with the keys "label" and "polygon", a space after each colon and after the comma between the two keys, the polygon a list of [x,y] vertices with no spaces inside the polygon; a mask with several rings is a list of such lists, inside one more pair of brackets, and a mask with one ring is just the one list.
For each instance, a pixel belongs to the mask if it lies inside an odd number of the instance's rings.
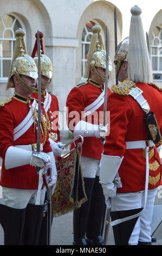
{"label": "pair of tall black boots on the soldier third from left", "polygon": [[99,183],[99,177],[84,178],[87,202],[74,211],[74,241],[95,238],[101,234],[101,223],[104,215],[105,197]]}

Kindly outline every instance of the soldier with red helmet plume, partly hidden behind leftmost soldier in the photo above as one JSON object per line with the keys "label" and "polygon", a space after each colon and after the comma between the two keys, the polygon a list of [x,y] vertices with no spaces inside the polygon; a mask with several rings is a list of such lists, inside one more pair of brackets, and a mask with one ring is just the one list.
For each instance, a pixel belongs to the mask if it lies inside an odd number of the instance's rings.
{"label": "soldier with red helmet plume, partly hidden behind leftmost soldier", "polygon": [[[50,92],[48,92],[48,87],[51,82],[51,78],[53,76],[53,65],[51,63],[50,58],[44,54],[44,47],[43,47],[43,33],[39,32],[40,34],[40,46],[41,46],[41,102],[43,103],[44,109],[47,112],[47,124],[49,130],[49,142],[50,146],[53,150],[54,157],[59,156],[64,152],[63,144],[60,142],[60,131],[59,131],[59,102],[57,97]],[[37,38],[37,33],[35,34]],[[35,46],[31,57],[34,58],[36,66],[38,66],[38,57],[35,56],[37,51],[37,39],[35,41]],[[38,91],[35,90],[31,97],[34,97],[36,100],[38,99]],[[45,203],[48,202],[47,194],[45,197]],[[49,209],[48,209],[49,210]],[[43,221],[42,221],[42,228],[40,234],[40,240],[38,245],[47,245],[48,241],[48,215],[49,212],[47,211],[47,205],[45,205],[44,213],[43,213]]]}

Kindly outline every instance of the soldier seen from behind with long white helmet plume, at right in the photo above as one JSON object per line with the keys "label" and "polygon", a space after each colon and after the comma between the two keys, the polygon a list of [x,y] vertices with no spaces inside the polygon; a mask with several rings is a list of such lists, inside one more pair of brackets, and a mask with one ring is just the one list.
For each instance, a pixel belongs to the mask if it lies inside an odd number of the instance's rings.
{"label": "soldier seen from behind with long white helmet plume, at right", "polygon": [[129,38],[119,44],[114,58],[121,83],[109,96],[110,133],[103,147],[100,183],[108,206],[112,198],[115,244],[150,245],[154,197],[161,180],[157,147],[162,97],[152,83],[141,9],[135,6],[131,13]]}

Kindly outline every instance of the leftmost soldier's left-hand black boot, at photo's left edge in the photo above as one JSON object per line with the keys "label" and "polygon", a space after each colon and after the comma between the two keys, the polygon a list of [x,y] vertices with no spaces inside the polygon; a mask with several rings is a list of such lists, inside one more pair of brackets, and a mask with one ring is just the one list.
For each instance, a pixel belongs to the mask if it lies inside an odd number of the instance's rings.
{"label": "leftmost soldier's left-hand black boot, at photo's left edge", "polygon": [[25,210],[0,204],[0,223],[4,230],[4,245],[22,245]]}

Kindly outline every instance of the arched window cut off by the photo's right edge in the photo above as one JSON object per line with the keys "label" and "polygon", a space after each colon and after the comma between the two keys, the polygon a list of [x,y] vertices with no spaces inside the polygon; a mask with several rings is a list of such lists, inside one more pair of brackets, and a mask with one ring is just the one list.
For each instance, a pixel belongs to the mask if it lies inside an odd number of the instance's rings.
{"label": "arched window cut off by the photo's right edge", "polygon": [[154,28],[151,44],[151,62],[154,79],[162,80],[162,26]]}

